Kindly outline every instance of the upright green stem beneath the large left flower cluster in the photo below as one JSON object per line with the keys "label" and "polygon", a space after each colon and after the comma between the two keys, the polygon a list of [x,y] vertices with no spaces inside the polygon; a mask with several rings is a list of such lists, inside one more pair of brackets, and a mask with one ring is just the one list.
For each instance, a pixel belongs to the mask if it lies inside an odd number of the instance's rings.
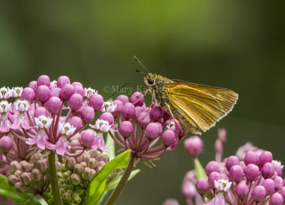
{"label": "upright green stem beneath the large left flower cluster", "polygon": [[48,165],[54,204],[62,205],[61,193],[58,186],[58,174],[56,172],[56,154],[54,152],[48,155]]}

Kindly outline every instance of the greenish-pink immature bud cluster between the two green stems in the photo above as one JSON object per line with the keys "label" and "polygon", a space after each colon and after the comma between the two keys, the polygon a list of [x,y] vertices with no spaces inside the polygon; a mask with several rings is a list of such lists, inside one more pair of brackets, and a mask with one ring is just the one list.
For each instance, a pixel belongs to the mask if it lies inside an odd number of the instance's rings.
{"label": "greenish-pink immature bud cluster between the two green stems", "polygon": [[[63,156],[61,162],[57,164],[58,184],[63,204],[80,204],[90,180],[108,161],[107,155],[95,149],[90,149],[76,158]],[[51,186],[48,186],[44,195],[48,199],[48,204],[53,204]]]}

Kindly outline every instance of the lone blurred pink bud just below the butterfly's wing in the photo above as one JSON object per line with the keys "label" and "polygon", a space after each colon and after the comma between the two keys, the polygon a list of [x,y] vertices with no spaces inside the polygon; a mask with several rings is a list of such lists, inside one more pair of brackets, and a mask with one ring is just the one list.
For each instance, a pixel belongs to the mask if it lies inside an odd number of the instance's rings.
{"label": "lone blurred pink bud just below the butterfly's wing", "polygon": [[203,148],[203,142],[200,137],[189,137],[184,141],[184,147],[192,157],[197,157]]}

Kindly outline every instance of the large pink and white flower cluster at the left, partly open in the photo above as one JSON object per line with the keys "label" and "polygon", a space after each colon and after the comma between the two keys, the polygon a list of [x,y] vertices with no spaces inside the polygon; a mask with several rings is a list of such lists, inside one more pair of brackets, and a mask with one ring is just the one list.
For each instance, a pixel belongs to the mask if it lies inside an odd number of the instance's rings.
{"label": "large pink and white flower cluster at the left, partly open", "polygon": [[[104,102],[97,91],[71,83],[67,76],[51,82],[47,75],[41,75],[24,89],[1,88],[0,100],[3,163],[29,159],[33,147],[69,157],[76,157],[85,149],[106,150],[103,133],[115,128],[113,122],[101,118],[111,115],[116,106],[109,106],[110,102]],[[103,114],[91,126],[98,132],[81,132],[98,111]]]}

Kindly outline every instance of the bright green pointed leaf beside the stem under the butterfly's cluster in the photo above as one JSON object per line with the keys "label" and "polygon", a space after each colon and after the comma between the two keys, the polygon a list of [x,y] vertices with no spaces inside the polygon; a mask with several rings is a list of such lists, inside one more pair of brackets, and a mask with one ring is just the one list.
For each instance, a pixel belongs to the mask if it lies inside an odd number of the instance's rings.
{"label": "bright green pointed leaf beside the stem under the butterfly's cluster", "polygon": [[114,172],[115,169],[127,167],[129,157],[130,150],[123,152],[115,157],[115,159],[105,164],[103,169],[101,169],[89,183],[84,204],[96,204],[97,201],[99,201],[100,197],[105,192],[108,176]]}

